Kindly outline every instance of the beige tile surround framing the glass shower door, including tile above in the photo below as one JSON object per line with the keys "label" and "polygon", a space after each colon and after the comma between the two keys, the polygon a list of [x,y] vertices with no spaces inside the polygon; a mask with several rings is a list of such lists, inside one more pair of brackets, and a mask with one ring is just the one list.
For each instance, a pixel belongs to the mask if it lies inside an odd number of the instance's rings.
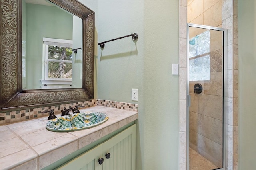
{"label": "beige tile surround framing the glass shower door, including tile above", "polygon": [[[195,2],[194,2],[195,1]],[[227,134],[226,134],[226,151],[227,151],[227,170],[238,169],[238,1],[237,0],[201,0],[201,4],[194,5],[192,13],[188,4],[196,3],[200,0],[180,0],[179,4],[179,169],[186,170],[187,164],[187,150],[186,150],[186,40],[187,40],[187,23],[200,25],[217,26],[227,29],[227,98],[226,103],[226,117]],[[220,6],[221,4],[221,6]],[[211,6],[212,8],[210,8]],[[215,8],[218,6],[218,8]],[[191,7],[191,6],[190,6]],[[208,8],[209,7],[209,8]],[[208,9],[208,11],[206,10]],[[215,8],[215,9],[214,9]],[[204,14],[203,14],[204,13]],[[215,15],[221,14],[221,24],[218,25],[214,19],[207,20],[206,14],[210,14],[212,18]],[[194,19],[191,19],[190,17]],[[219,18],[219,16],[217,17]],[[217,23],[217,24],[211,24]]]}

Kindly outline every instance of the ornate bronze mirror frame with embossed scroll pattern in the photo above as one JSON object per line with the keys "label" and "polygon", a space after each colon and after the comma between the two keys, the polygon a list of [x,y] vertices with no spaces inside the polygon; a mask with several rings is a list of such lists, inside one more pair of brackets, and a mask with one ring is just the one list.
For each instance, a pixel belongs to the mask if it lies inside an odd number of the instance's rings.
{"label": "ornate bronze mirror frame with embossed scroll pattern", "polygon": [[94,12],[76,0],[49,0],[82,18],[82,88],[22,90],[22,1],[0,0],[0,112],[94,98]]}

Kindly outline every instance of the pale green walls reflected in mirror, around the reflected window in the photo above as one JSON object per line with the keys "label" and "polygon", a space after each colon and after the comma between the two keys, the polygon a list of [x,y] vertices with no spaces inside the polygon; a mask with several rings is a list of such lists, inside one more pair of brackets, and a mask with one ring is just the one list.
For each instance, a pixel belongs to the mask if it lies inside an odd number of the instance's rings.
{"label": "pale green walls reflected in mirror, around the reflected window", "polygon": [[[45,79],[45,65],[43,37],[73,40],[74,48],[82,47],[82,19],[58,8],[52,3],[27,3],[22,1],[22,88],[62,88],[65,86],[45,87],[41,79]],[[74,20],[74,21],[73,21]],[[73,24],[75,22],[75,24]],[[78,26],[79,25],[79,26]],[[73,30],[74,28],[74,30]],[[77,35],[78,34],[78,35]],[[74,37],[73,37],[74,36]],[[78,45],[79,44],[79,45]],[[74,49],[73,48],[73,49]],[[74,59],[82,59],[82,51],[75,54]],[[75,70],[74,70],[75,69]],[[75,76],[72,86],[66,88],[81,88],[82,62],[73,61]],[[74,86],[75,84],[75,86]]]}

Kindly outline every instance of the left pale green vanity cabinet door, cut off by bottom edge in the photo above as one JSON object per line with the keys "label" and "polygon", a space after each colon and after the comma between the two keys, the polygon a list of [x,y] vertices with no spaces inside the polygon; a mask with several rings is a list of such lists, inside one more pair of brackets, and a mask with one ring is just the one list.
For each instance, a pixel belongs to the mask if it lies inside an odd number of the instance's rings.
{"label": "left pale green vanity cabinet door, cut off by bottom edge", "polygon": [[98,162],[100,158],[102,158],[102,144],[72,159],[57,170],[102,170],[102,165]]}

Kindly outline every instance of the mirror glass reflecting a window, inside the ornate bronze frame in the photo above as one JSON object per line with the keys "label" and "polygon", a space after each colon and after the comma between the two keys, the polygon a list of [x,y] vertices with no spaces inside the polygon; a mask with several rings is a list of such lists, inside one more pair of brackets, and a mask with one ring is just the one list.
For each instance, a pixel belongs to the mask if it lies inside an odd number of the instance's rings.
{"label": "mirror glass reflecting a window, inside the ornate bronze frame", "polygon": [[82,19],[44,0],[22,1],[22,88],[82,87]]}

